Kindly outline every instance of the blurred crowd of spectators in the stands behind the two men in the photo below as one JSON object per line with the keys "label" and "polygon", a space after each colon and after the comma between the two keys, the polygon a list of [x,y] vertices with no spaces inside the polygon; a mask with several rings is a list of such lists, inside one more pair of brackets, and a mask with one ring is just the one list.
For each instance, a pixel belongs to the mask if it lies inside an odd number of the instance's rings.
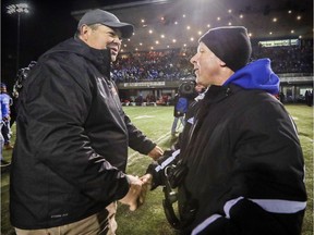
{"label": "blurred crowd of spectators in the stands behind the two men", "polygon": [[[112,67],[116,83],[173,81],[193,76],[189,62],[196,48],[121,54]],[[275,73],[312,73],[313,45],[253,47],[252,61],[269,58]]]}

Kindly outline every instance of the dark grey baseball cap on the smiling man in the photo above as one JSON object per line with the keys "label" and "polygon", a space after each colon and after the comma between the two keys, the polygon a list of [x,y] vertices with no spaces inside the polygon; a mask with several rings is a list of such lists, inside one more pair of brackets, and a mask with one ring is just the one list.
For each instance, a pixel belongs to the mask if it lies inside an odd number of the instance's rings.
{"label": "dark grey baseball cap on the smiling man", "polygon": [[130,38],[134,32],[134,26],[120,20],[112,13],[96,9],[86,12],[78,22],[77,28],[82,25],[102,24],[111,28],[119,28],[122,38]]}

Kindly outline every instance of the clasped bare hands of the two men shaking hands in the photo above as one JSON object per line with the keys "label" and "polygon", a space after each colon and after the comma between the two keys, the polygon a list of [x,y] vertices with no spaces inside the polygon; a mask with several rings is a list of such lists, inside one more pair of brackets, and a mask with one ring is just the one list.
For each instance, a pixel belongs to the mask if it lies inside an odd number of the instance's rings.
{"label": "clasped bare hands of the two men shaking hands", "polygon": [[126,177],[130,188],[128,194],[119,201],[123,205],[129,205],[130,210],[134,211],[144,203],[153,177],[150,174],[145,174],[142,177],[126,175]]}

